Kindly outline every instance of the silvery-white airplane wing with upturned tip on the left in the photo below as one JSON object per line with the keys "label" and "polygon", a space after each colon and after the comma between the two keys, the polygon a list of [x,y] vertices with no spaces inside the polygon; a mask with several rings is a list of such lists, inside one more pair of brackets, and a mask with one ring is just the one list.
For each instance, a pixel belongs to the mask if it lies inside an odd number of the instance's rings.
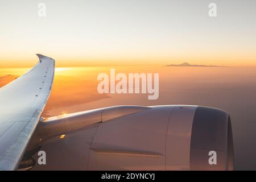
{"label": "silvery-white airplane wing with upturned tip on the left", "polygon": [[55,60],[38,54],[26,74],[0,88],[0,170],[15,170],[49,98]]}

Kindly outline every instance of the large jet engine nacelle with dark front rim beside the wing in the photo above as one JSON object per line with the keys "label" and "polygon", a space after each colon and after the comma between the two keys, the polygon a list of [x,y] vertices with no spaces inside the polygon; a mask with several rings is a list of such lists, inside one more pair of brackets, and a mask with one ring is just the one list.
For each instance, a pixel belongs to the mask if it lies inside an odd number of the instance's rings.
{"label": "large jet engine nacelle with dark front rim beside the wing", "polygon": [[[44,119],[33,170],[232,170],[229,115],[203,106],[115,106]],[[38,155],[33,158],[37,161]]]}

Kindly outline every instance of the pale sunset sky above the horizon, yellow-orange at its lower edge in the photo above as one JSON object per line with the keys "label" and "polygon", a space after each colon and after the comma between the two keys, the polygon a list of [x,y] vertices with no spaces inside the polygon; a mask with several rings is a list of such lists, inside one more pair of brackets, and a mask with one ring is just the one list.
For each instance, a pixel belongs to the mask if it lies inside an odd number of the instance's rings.
{"label": "pale sunset sky above the horizon, yellow-orange at its lower edge", "polygon": [[[38,4],[46,4],[46,17]],[[217,17],[208,5],[217,5]],[[0,67],[256,66],[256,1],[1,0]]]}

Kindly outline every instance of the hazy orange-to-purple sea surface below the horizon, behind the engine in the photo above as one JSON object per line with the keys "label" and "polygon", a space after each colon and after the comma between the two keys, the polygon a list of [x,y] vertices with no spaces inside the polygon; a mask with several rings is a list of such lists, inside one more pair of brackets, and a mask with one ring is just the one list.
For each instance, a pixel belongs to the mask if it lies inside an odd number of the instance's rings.
{"label": "hazy orange-to-purple sea surface below the horizon, behind the engine", "polygon": [[[256,170],[256,68],[115,67],[116,73],[159,73],[159,98],[148,94],[99,94],[97,76],[112,67],[56,68],[44,117],[114,105],[203,105],[232,118],[235,168]],[[0,86],[28,68],[0,68]]]}

